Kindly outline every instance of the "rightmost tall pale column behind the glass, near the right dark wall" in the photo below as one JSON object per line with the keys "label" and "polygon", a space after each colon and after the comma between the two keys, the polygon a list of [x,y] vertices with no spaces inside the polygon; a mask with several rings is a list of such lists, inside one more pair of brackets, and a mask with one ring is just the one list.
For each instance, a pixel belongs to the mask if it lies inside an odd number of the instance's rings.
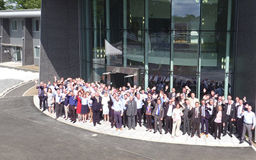
{"label": "rightmost tall pale column behind the glass, near the right dark wall", "polygon": [[228,79],[230,77],[230,30],[232,17],[232,0],[228,0],[228,18],[226,24],[226,64],[225,64],[225,83],[224,83],[224,97],[228,98]]}

